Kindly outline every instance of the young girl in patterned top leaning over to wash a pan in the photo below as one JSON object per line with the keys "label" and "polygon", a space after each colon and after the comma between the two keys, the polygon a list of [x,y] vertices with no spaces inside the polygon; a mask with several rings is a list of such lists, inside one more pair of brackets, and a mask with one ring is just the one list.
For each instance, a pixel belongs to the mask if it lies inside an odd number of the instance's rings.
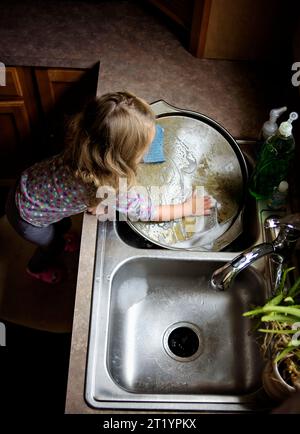
{"label": "young girl in patterned top leaning over to wash a pan", "polygon": [[[74,248],[67,234],[70,216],[96,212],[99,186],[117,190],[121,177],[133,186],[154,135],[155,115],[145,101],[128,92],[105,94],[73,118],[61,154],[21,174],[8,197],[6,215],[23,238],[38,246],[27,266],[30,276],[47,283],[61,280],[55,258]],[[138,194],[128,195],[128,214],[163,221],[195,215],[196,197],[178,205],[143,204]],[[209,213],[210,205],[205,198],[202,213]]]}

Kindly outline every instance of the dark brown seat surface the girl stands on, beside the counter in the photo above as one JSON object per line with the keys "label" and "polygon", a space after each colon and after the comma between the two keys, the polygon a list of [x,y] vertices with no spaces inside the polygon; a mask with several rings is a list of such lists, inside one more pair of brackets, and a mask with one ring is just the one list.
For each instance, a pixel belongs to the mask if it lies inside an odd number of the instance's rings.
{"label": "dark brown seat surface the girl stands on, beside the counter", "polygon": [[[82,216],[73,218],[80,237]],[[25,268],[35,246],[17,235],[6,216],[0,218],[0,319],[57,333],[72,330],[79,252],[59,258],[65,276],[48,285],[27,275]]]}

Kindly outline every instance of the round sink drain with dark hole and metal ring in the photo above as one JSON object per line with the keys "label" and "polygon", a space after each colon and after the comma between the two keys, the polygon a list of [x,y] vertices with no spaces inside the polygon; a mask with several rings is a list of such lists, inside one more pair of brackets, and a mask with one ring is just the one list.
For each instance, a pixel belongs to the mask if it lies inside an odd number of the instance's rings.
{"label": "round sink drain with dark hole and metal ring", "polygon": [[199,328],[192,323],[172,324],[164,333],[164,349],[175,360],[187,362],[196,359],[202,352]]}

